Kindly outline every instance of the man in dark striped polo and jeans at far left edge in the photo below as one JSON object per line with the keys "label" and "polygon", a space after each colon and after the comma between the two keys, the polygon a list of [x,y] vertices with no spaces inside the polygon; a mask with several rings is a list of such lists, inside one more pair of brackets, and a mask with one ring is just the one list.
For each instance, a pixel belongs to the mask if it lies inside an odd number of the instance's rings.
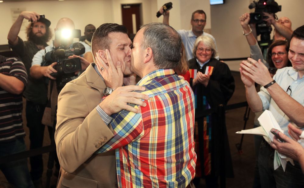
{"label": "man in dark striped polo and jeans at far left edge", "polygon": [[[0,55],[0,157],[26,150],[22,121],[22,92],[27,85],[24,64],[18,59]],[[3,61],[2,61],[3,58]],[[0,169],[16,187],[34,187],[27,158],[3,163]]]}

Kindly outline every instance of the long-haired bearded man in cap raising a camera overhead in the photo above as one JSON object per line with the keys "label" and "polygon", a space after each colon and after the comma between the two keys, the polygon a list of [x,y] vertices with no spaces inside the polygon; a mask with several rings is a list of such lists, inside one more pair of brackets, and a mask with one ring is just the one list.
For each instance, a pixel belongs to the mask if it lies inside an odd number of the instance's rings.
{"label": "long-haired bearded man in cap raising a camera overhead", "polygon": [[[27,41],[18,37],[23,19],[31,21],[27,27]],[[41,119],[47,98],[43,93],[47,93],[44,79],[34,79],[30,76],[30,67],[34,55],[48,46],[47,42],[52,38],[50,30],[51,22],[48,19],[40,17],[36,12],[23,11],[20,13],[16,22],[12,25],[7,39],[9,46],[22,59],[28,75],[28,83],[23,96],[26,98],[26,118],[27,127],[30,130],[30,149],[42,146],[44,125]],[[43,172],[42,155],[30,157],[31,178],[35,187],[42,187],[41,176]]]}

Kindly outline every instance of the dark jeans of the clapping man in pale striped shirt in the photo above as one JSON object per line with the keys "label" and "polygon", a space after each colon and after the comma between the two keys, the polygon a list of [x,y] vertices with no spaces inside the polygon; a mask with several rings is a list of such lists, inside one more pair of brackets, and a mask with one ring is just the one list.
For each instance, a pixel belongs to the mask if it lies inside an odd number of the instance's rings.
{"label": "dark jeans of the clapping man in pale striped shirt", "polygon": [[262,187],[304,187],[304,175],[298,162],[293,166],[287,162],[285,172],[280,166],[274,170],[274,149],[263,139],[258,158]]}

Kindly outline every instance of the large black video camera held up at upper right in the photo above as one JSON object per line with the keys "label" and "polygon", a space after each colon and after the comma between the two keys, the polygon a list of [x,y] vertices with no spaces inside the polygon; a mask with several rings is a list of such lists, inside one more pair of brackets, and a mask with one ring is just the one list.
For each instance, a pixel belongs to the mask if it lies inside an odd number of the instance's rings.
{"label": "large black video camera held up at upper right", "polygon": [[249,9],[255,8],[253,13],[250,13],[250,22],[256,23],[256,35],[261,35],[260,46],[268,47],[271,44],[270,33],[272,31],[271,26],[267,26],[267,22],[263,19],[267,19],[267,16],[263,15],[263,12],[272,14],[274,18],[277,18],[275,13],[281,11],[281,5],[278,5],[274,0],[259,0],[253,1],[249,5]]}

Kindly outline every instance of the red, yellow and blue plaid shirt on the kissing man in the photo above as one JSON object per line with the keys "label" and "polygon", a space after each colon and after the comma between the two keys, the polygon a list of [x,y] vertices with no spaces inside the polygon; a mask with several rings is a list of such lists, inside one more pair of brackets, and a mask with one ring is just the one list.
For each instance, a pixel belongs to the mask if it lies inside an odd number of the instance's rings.
{"label": "red, yellow and blue plaid shirt on the kissing man", "polygon": [[116,149],[119,187],[186,187],[196,164],[193,91],[172,69],[153,71],[137,85],[146,88],[147,106],[113,114],[114,137],[97,153]]}

